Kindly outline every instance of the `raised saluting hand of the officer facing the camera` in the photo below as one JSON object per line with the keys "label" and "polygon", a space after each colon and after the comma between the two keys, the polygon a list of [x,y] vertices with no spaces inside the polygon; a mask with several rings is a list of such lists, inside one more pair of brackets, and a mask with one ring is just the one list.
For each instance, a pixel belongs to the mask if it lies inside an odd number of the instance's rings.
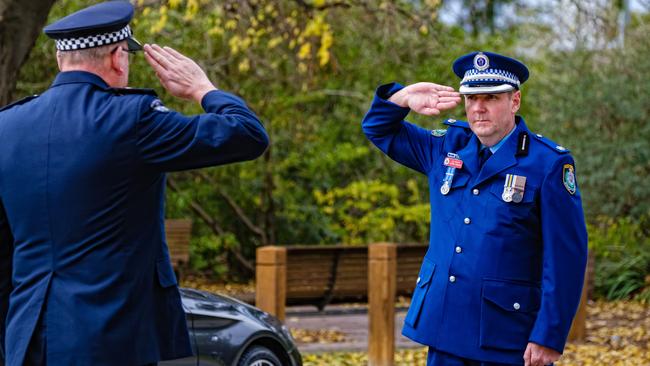
{"label": "raised saluting hand of the officer facing the camera", "polygon": [[452,109],[460,103],[460,93],[450,86],[434,83],[411,84],[388,99],[400,107],[427,116],[440,114],[440,111]]}

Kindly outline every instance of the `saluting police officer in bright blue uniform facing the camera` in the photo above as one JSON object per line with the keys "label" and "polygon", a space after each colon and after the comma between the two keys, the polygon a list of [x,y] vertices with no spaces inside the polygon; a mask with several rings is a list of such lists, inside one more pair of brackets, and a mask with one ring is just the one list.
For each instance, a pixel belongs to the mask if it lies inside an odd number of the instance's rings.
{"label": "saluting police officer in bright blue uniform facing the camera", "polygon": [[[587,233],[569,151],[517,115],[526,66],[474,52],[454,62],[459,91],[433,83],[380,86],[363,131],[425,174],[430,245],[403,334],[432,365],[533,365],[563,351],[580,300]],[[464,97],[467,122],[427,130]]]}

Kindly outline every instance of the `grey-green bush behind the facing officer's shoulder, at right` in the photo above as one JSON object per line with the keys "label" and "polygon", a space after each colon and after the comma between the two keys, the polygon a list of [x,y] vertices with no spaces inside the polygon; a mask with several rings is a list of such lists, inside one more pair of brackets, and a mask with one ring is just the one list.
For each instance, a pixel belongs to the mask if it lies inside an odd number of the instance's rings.
{"label": "grey-green bush behind the facing officer's shoulder, at right", "polygon": [[572,150],[592,219],[650,214],[648,31],[631,29],[624,48],[547,52],[528,88],[534,125]]}

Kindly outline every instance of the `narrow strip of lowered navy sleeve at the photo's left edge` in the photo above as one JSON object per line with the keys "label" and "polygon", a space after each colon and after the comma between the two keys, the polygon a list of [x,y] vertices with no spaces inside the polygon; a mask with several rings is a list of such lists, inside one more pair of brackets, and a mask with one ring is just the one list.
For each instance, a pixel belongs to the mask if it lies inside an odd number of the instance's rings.
{"label": "narrow strip of lowered navy sleeve at the photo's left edge", "polygon": [[5,359],[6,319],[9,309],[9,295],[13,289],[11,280],[13,241],[4,206],[0,201],[0,365],[4,364]]}

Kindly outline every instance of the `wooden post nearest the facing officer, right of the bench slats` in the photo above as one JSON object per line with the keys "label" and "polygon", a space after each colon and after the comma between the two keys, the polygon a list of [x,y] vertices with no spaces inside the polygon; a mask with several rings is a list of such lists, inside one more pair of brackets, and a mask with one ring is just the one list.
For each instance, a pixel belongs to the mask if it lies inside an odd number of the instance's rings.
{"label": "wooden post nearest the facing officer, right of the bench slats", "polygon": [[395,291],[397,246],[368,246],[368,365],[395,363]]}

